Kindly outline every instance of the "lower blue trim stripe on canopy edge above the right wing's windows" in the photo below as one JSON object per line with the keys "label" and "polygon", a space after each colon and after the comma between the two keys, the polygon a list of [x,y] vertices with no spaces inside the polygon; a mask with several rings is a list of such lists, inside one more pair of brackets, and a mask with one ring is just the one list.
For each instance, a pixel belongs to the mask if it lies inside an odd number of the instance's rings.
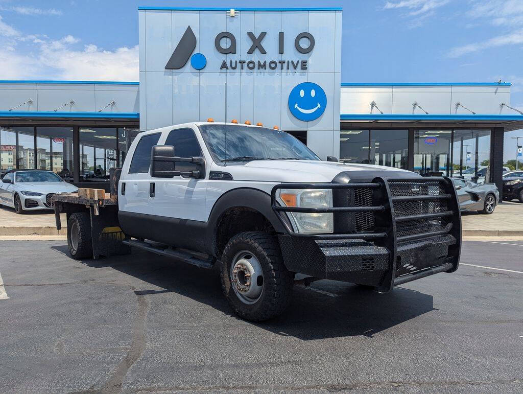
{"label": "lower blue trim stripe on canopy edge above the right wing's windows", "polygon": [[523,115],[371,115],[342,114],[341,120],[521,120]]}

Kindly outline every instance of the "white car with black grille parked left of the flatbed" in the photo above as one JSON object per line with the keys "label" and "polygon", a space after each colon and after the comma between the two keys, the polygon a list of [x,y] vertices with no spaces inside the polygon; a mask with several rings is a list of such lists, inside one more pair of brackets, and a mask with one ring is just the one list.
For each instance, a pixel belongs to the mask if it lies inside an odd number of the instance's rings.
{"label": "white car with black grille parked left of the flatbed", "polygon": [[78,188],[52,171],[13,170],[0,182],[0,205],[15,208],[16,213],[53,209],[56,193],[75,193]]}

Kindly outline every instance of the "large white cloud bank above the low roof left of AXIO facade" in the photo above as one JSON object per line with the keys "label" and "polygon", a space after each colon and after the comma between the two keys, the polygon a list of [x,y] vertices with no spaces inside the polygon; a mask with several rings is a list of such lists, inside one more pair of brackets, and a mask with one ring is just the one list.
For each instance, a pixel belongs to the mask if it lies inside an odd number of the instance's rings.
{"label": "large white cloud bank above the low roof left of AXIO facade", "polygon": [[22,35],[0,16],[2,79],[138,81],[138,45],[114,50],[94,43],[79,46],[72,35],[50,39]]}

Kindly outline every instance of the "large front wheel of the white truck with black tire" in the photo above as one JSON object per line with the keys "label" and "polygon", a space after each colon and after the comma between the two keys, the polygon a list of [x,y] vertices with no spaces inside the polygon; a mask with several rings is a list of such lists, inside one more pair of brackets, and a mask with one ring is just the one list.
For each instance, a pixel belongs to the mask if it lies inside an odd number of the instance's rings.
{"label": "large front wheel of the white truck with black tire", "polygon": [[234,312],[259,322],[278,316],[289,306],[294,274],[283,264],[274,235],[243,232],[225,245],[221,283]]}

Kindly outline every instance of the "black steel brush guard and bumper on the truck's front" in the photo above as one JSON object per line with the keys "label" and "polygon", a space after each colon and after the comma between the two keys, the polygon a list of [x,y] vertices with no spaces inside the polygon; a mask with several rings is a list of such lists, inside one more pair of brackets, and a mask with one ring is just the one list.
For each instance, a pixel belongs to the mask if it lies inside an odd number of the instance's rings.
{"label": "black steel brush guard and bumper on the truck's front", "polygon": [[[276,199],[279,189],[332,189],[334,207],[281,206]],[[411,280],[458,269],[461,214],[448,177],[279,184],[272,188],[271,204],[288,231],[278,239],[289,271],[386,292]],[[332,212],[334,233],[294,232],[285,212]]]}

